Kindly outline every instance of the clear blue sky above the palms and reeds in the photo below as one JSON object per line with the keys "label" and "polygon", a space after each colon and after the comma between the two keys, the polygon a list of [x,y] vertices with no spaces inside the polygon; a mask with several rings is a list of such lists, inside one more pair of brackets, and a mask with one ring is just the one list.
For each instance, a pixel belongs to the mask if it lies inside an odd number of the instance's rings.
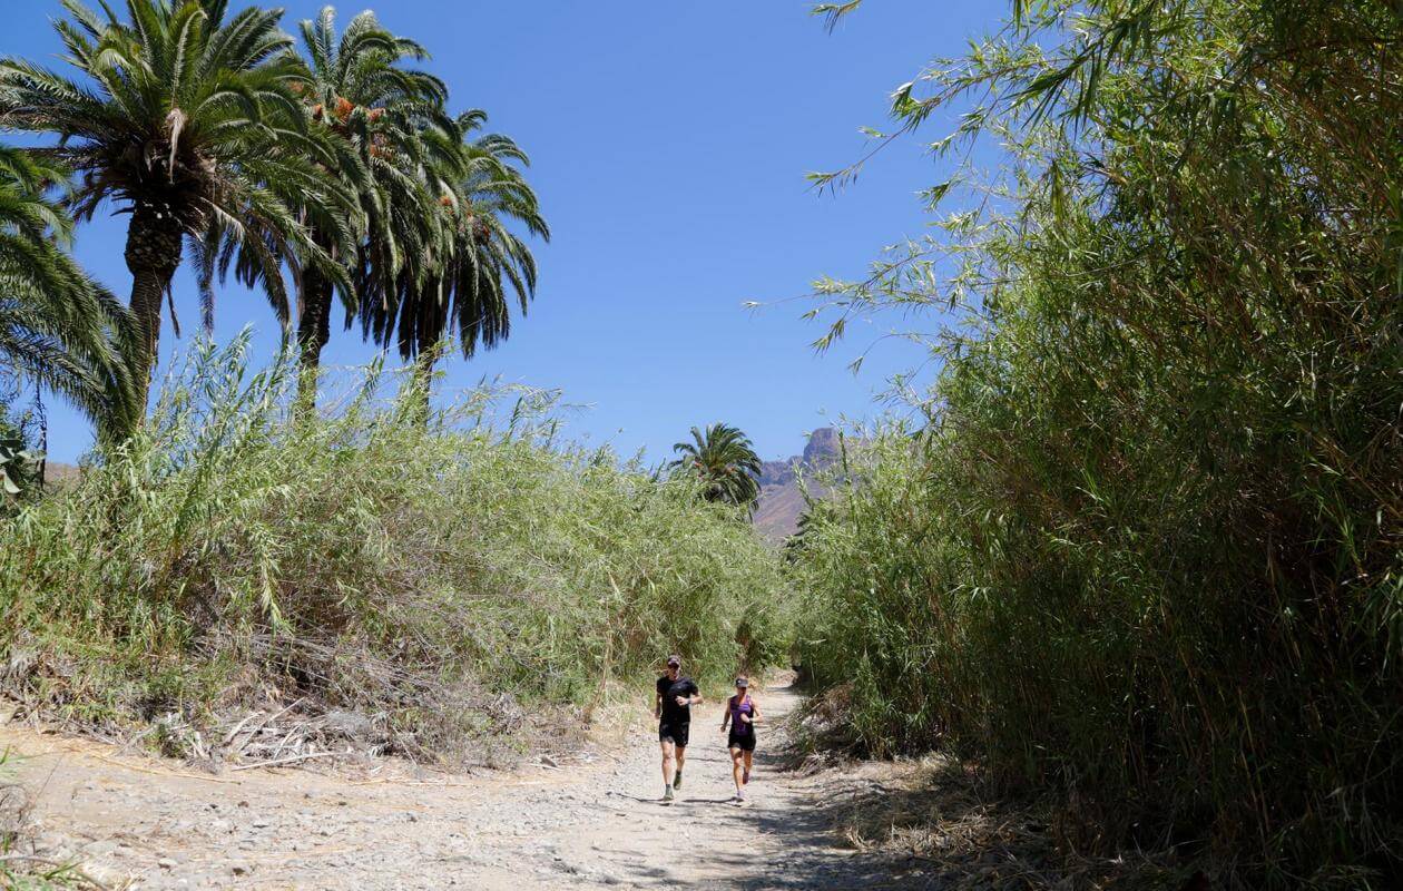
{"label": "clear blue sky above the palms and reeds", "polygon": [[[243,4],[236,0],[234,8]],[[288,3],[285,28],[323,4]],[[854,276],[884,244],[927,225],[913,192],[943,177],[919,143],[880,156],[836,196],[804,173],[854,160],[860,125],[884,126],[887,94],[926,60],[958,55],[993,27],[1002,0],[871,0],[828,34],[807,0],[384,0],[366,6],[425,43],[457,108],[481,107],[490,129],[532,156],[530,180],[554,240],[537,247],[540,289],[511,341],[471,362],[452,359],[448,386],[501,376],[558,387],[570,432],[651,460],[693,424],[745,429],[763,457],[803,446],[839,415],[864,417],[884,379],[915,362],[881,348],[854,377],[846,368],[881,328],[854,330],[815,355],[821,334],[798,302],[760,311],[749,299],[804,295],[821,275]],[[0,53],[62,67],[49,18],[58,0],[7,4]],[[125,297],[125,216],[79,233],[77,254]],[[199,311],[182,271],[175,303],[184,341],[167,328],[163,356],[189,344]],[[340,323],[340,314],[337,316]],[[260,356],[276,344],[267,303],[237,286],[219,293],[216,337],[254,324]],[[325,362],[373,356],[359,333],[333,333]],[[91,445],[87,424],[49,403],[51,456]]]}

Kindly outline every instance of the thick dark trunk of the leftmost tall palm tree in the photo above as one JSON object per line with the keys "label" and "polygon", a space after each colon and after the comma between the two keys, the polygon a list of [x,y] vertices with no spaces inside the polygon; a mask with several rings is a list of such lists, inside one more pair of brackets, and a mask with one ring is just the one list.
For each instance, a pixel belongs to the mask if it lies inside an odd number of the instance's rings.
{"label": "thick dark trunk of the leftmost tall palm tree", "polygon": [[132,376],[142,397],[152,389],[161,338],[161,300],[180,267],[182,237],[181,225],[164,206],[137,203],[132,209],[125,257],[132,274],[130,306],[137,334]]}

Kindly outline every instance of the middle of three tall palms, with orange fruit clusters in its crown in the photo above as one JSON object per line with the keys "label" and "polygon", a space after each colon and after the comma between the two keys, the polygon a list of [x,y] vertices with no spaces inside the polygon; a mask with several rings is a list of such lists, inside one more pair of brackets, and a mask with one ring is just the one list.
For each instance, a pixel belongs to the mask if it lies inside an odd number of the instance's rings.
{"label": "middle of three tall palms, with orange fruit clusters in its crown", "polygon": [[[345,181],[366,220],[359,250],[344,258],[355,285],[355,293],[341,292],[349,324],[362,295],[377,300],[393,290],[410,258],[419,261],[414,269],[422,271],[422,258],[439,237],[419,135],[449,125],[442,111],[448,87],[431,74],[401,67],[407,59],[427,59],[427,51],[386,31],[373,13],[356,15],[340,38],[330,6],[316,20],[303,21],[300,29],[309,81],[300,95],[314,125],[338,146],[340,163],[327,175]],[[328,251],[334,248],[316,229],[311,239]],[[299,401],[311,407],[316,369],[330,338],[334,283],[314,265],[296,269],[295,281],[304,370]]]}

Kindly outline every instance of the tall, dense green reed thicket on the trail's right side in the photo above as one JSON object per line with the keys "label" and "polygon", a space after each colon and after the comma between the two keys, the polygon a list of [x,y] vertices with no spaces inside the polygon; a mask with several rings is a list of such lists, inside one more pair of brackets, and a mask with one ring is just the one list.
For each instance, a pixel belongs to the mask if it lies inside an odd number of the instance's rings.
{"label": "tall, dense green reed thicket on the trail's right side", "polygon": [[[993,181],[839,313],[954,310],[800,554],[878,752],[1058,790],[1085,849],[1403,869],[1403,83],[1385,3],[1026,3],[898,91]],[[929,93],[929,94],[927,94]],[[828,182],[838,182],[833,174]],[[840,330],[835,334],[840,334]],[[908,390],[909,391],[909,390]]]}

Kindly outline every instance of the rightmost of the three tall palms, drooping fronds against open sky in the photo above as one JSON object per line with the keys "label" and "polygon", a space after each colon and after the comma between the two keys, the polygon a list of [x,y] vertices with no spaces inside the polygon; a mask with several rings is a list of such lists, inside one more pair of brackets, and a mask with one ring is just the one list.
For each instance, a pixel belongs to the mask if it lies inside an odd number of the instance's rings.
{"label": "rightmost of the three tall palms, drooping fronds against open sky", "polygon": [[425,400],[438,345],[450,330],[463,358],[471,358],[478,345],[491,349],[511,335],[512,297],[525,314],[536,293],[536,260],[511,226],[550,240],[536,194],[515,167],[529,159],[506,136],[473,138],[485,121],[474,109],[421,133],[445,239],[425,264],[425,281],[401,274],[396,292],[361,304],[365,335],[417,361]]}

